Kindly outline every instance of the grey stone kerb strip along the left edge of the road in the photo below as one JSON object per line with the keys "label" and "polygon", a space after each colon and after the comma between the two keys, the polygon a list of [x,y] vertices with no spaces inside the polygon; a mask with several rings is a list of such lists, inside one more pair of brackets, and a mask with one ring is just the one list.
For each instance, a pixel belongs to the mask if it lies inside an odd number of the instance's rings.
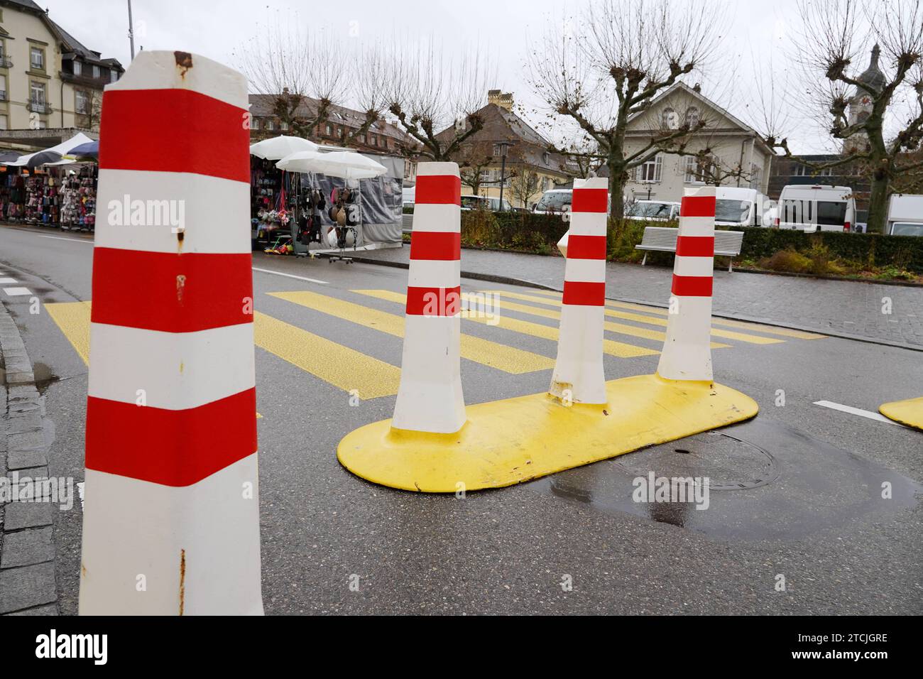
{"label": "grey stone kerb strip along the left edge of the road", "polygon": [[[0,474],[48,477],[44,398],[16,321],[0,303]],[[20,481],[20,485],[23,481]],[[54,508],[50,503],[0,503],[0,614],[57,615]]]}

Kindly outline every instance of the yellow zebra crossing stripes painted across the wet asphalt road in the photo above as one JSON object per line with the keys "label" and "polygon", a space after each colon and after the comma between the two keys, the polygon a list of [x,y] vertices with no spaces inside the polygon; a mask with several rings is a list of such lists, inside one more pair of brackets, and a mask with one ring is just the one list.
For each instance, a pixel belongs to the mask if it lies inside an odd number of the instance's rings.
{"label": "yellow zebra crossing stripes painted across the wet asphalt road", "polygon": [[[555,366],[557,353],[557,321],[560,319],[561,295],[551,291],[534,291],[529,294],[508,292],[505,290],[490,291],[488,296],[496,292],[497,297],[481,297],[478,295],[464,294],[465,299],[473,311],[480,310],[476,305],[484,303],[496,304],[496,307],[487,307],[487,313],[470,313],[462,316],[464,321],[476,322],[488,327],[497,328],[495,339],[487,340],[471,334],[462,334],[462,358],[473,360],[482,365],[502,370],[510,374],[522,374],[536,370],[551,370]],[[401,292],[390,290],[351,290],[351,294],[362,297],[371,297],[395,305],[404,305],[406,296]],[[395,308],[395,313],[359,304],[340,297],[320,295],[310,291],[270,293],[287,302],[292,302],[299,307],[318,311],[356,325],[377,330],[380,333],[390,334],[394,337],[403,337],[404,314],[402,308]],[[518,301],[513,301],[518,300]],[[67,341],[77,351],[84,363],[90,362],[90,302],[65,302],[46,304],[52,320],[64,333]],[[513,318],[510,314],[497,313],[498,310],[507,310],[516,315],[533,316],[555,322],[533,322],[522,318]],[[622,310],[624,309],[624,310]],[[616,322],[605,321],[606,333],[637,337],[642,340],[639,344],[617,342],[606,337],[604,351],[606,354],[617,358],[637,358],[655,356],[659,354],[660,344],[665,339],[662,330],[666,326],[665,309],[645,307],[629,302],[606,300],[606,316],[619,319]],[[728,340],[747,342],[749,344],[766,345],[785,342],[785,339],[762,336],[774,334],[779,337],[791,339],[821,339],[825,335],[806,333],[787,328],[749,323],[744,321],[728,321],[713,319],[713,325],[723,325],[735,328],[732,332],[713,328],[713,335]],[[634,324],[637,323],[637,324]],[[644,327],[644,326],[648,327]],[[650,326],[654,326],[653,328]],[[493,332],[493,331],[486,331]],[[548,342],[542,353],[534,353],[515,346],[515,340],[506,333],[518,333],[539,338]],[[754,334],[761,333],[761,334]],[[499,341],[499,340],[504,341]],[[356,392],[360,398],[378,398],[397,394],[401,381],[399,365],[393,365],[384,360],[368,356],[362,351],[361,346],[346,346],[351,344],[346,340],[344,344],[336,342],[320,334],[310,333],[291,323],[280,321],[265,313],[254,314],[254,342],[256,346],[264,349],[273,356],[291,365],[305,370],[318,379],[342,389],[344,392]],[[651,346],[644,346],[644,345]],[[513,345],[513,346],[510,346]],[[728,347],[727,344],[712,343],[713,348]],[[398,363],[399,361],[395,361]],[[259,415],[258,415],[259,417]]]}

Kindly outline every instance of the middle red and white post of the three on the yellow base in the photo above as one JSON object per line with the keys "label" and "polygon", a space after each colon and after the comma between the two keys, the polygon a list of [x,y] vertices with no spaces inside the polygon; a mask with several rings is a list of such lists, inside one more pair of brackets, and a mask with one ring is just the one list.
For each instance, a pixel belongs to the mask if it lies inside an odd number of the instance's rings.
{"label": "middle red and white post of the three on the yellow base", "polygon": [[[606,402],[603,371],[608,180],[575,179],[565,249],[557,363],[549,393],[567,403]],[[562,238],[563,241],[563,238]]]}

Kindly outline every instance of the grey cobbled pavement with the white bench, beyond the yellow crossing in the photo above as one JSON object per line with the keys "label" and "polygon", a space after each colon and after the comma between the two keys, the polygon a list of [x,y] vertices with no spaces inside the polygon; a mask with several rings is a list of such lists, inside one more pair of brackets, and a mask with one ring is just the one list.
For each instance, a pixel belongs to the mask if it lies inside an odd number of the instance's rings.
{"label": "grey cobbled pavement with the white bench, beyond the yellow crossing", "polygon": [[[406,262],[409,256],[410,248],[406,246],[361,253],[361,259],[366,261]],[[606,267],[606,297],[665,306],[671,268],[617,262],[609,262]],[[509,276],[559,290],[564,260],[463,249],[462,272]],[[715,270],[713,305],[718,315],[923,346],[920,287]]]}

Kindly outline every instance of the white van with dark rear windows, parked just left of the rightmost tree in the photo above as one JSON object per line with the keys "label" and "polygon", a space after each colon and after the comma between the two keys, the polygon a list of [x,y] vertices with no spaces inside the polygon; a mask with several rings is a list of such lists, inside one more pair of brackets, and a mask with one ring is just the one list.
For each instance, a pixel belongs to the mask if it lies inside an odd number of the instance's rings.
{"label": "white van with dark rear windows, parked just left of the rightmost tree", "polygon": [[789,184],[779,194],[780,229],[808,234],[818,231],[849,231],[856,223],[853,189],[829,185]]}

